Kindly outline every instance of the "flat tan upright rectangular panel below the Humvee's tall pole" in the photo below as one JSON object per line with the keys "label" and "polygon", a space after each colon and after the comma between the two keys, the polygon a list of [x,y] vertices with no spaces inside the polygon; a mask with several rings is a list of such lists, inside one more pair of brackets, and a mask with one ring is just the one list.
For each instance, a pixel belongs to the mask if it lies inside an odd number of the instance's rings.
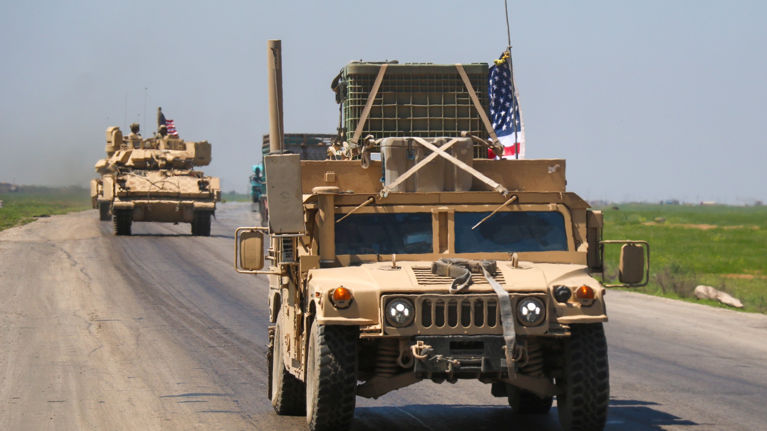
{"label": "flat tan upright rectangular panel below the Humvee's tall pole", "polygon": [[276,154],[264,156],[266,199],[269,202],[269,232],[271,234],[302,234],[304,225],[303,194],[301,192],[301,156]]}

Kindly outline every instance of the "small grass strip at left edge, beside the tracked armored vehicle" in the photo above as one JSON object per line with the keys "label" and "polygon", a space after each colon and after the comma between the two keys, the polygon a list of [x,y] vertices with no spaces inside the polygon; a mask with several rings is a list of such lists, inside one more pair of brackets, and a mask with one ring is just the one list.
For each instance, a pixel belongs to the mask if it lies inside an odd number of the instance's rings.
{"label": "small grass strip at left edge, beside the tracked armored vehicle", "polygon": [[28,222],[38,217],[66,214],[91,208],[91,192],[80,187],[21,186],[21,191],[0,193],[0,231]]}

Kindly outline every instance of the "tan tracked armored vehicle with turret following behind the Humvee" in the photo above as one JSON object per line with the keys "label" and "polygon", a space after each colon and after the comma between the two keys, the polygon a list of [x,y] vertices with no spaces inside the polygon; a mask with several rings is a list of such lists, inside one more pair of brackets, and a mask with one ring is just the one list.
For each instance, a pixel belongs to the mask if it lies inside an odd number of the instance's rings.
{"label": "tan tracked armored vehicle with turret following behind the Humvee", "polygon": [[107,157],[96,163],[91,199],[115,235],[130,235],[133,222],[185,222],[192,235],[210,235],[210,219],[221,200],[219,179],[196,166],[210,163],[210,143],[170,135],[142,139],[107,129]]}

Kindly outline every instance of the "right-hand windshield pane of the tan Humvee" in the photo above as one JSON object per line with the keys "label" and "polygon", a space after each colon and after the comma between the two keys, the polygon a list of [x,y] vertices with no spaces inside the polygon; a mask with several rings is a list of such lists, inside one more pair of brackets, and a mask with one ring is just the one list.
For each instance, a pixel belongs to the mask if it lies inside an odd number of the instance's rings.
{"label": "right-hand windshield pane of the tan Humvee", "polygon": [[565,217],[556,211],[456,212],[456,253],[567,251]]}

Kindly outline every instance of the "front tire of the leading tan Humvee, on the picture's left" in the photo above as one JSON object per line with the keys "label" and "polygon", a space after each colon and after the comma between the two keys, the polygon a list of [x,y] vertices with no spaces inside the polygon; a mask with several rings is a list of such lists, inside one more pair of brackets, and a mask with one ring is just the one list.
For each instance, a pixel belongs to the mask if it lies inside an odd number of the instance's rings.
{"label": "front tire of the leading tan Humvee, on the picture's left", "polygon": [[314,322],[306,370],[306,421],[311,431],[349,429],[357,401],[356,326]]}

